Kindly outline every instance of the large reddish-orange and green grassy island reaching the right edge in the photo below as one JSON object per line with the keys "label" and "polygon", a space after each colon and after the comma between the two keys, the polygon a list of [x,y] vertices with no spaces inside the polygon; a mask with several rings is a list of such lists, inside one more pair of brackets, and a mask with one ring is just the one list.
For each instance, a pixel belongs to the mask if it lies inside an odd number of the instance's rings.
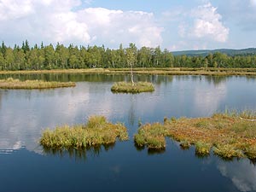
{"label": "large reddish-orange and green grassy island reaching the right edge", "polygon": [[214,154],[224,158],[256,159],[256,121],[252,113],[215,113],[209,118],[165,119],[164,124],[147,124],[134,136],[139,147],[166,148],[165,137],[180,143],[181,148],[195,145],[199,155]]}

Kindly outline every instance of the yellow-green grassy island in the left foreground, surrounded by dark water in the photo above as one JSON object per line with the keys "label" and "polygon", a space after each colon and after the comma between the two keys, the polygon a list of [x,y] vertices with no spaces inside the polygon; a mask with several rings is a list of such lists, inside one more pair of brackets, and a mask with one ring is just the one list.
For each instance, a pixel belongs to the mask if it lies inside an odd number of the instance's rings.
{"label": "yellow-green grassy island in the left foreground, surrounded by dark water", "polygon": [[124,125],[111,124],[103,116],[93,116],[85,125],[58,126],[54,131],[43,132],[40,144],[45,148],[87,148],[128,140]]}

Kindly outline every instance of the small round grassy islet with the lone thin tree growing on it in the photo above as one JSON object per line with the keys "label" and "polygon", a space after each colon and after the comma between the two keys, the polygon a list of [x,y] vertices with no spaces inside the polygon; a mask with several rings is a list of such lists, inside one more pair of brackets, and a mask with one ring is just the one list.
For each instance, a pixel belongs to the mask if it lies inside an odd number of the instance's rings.
{"label": "small round grassy islet with the lone thin tree growing on it", "polygon": [[117,93],[141,93],[154,91],[154,85],[148,82],[119,82],[113,84],[111,90]]}

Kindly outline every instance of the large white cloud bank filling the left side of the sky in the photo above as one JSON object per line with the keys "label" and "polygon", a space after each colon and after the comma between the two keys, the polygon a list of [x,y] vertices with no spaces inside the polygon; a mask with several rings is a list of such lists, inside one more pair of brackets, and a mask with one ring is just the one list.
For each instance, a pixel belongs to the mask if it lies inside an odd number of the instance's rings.
{"label": "large white cloud bank filling the left side of the sky", "polygon": [[0,0],[0,36],[63,44],[162,43],[162,28],[152,13],[80,5],[79,0]]}

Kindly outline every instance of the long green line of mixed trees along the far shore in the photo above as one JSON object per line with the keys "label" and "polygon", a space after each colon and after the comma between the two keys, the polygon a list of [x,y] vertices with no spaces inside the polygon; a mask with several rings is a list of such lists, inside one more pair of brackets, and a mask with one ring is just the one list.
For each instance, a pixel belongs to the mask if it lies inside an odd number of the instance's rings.
{"label": "long green line of mixed trees along the far shore", "polygon": [[0,46],[0,70],[42,70],[79,68],[121,68],[131,67],[129,57],[135,56],[133,67],[256,67],[256,55],[225,55],[222,53],[207,56],[172,55],[168,49],[160,47],[138,49],[135,44],[119,49],[106,49],[102,46],[73,46],[63,44],[30,46],[28,41],[22,46]]}

